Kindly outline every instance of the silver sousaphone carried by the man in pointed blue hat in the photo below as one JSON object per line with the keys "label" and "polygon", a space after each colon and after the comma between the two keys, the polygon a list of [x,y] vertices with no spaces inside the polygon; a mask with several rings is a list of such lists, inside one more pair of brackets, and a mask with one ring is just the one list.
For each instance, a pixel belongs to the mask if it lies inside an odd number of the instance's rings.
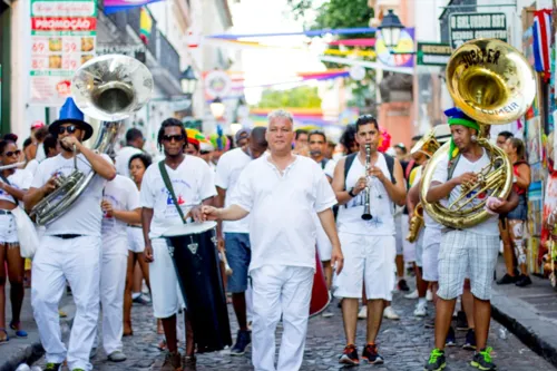
{"label": "silver sousaphone carried by the man in pointed blue hat", "polygon": [[[113,150],[121,127],[120,120],[139,110],[153,94],[153,76],[135,58],[107,55],[94,58],[76,70],[71,96],[88,117],[101,121],[91,149],[100,154]],[[87,188],[96,173],[88,175],[77,167],[68,176],[56,179],[57,188],[39,202],[29,214],[38,225],[46,225],[63,215]]]}

